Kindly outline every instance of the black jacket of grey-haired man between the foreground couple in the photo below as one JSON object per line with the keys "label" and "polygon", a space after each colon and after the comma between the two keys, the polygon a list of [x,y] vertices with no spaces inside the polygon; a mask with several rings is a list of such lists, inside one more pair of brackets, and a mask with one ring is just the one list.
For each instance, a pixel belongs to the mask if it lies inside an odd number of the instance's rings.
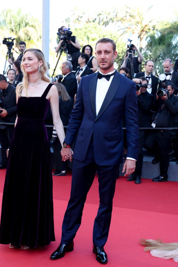
{"label": "black jacket of grey-haired man between the foreground couple", "polygon": [[64,77],[61,83],[65,86],[65,89],[67,90],[69,96],[74,101],[74,96],[77,93],[77,87],[78,87],[75,75],[72,72],[70,72],[69,74],[66,75],[66,77]]}

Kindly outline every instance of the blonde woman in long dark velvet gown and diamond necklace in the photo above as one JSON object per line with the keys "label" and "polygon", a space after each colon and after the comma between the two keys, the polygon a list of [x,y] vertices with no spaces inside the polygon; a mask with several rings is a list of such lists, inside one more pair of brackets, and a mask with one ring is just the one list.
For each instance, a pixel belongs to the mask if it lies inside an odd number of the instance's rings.
{"label": "blonde woman in long dark velvet gown and diamond necklace", "polygon": [[49,83],[41,50],[27,49],[21,69],[24,78],[16,88],[17,119],[2,198],[0,243],[28,249],[55,241],[52,168],[44,125],[49,104],[61,144],[65,134],[57,89]]}

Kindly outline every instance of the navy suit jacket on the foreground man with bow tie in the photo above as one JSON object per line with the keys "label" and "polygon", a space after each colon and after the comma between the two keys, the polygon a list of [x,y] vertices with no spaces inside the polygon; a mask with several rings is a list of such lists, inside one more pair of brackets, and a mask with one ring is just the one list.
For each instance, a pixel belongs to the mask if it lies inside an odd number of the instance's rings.
{"label": "navy suit jacket on the foreground man with bow tie", "polygon": [[97,73],[82,77],[64,142],[72,145],[78,133],[73,157],[84,161],[93,135],[95,162],[108,166],[120,164],[123,162],[122,119],[125,113],[127,156],[137,159],[136,84],[116,71],[96,115],[97,79]]}

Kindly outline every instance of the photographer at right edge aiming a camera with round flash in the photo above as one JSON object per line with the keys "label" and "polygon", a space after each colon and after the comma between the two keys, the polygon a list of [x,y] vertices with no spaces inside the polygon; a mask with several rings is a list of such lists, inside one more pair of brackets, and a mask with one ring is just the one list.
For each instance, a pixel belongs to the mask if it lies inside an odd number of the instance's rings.
{"label": "photographer at right edge aiming a camera with round flash", "polygon": [[[162,79],[159,76],[159,79]],[[165,75],[164,75],[165,76]],[[165,76],[166,77],[166,76]],[[152,127],[166,128],[178,125],[178,97],[174,95],[174,84],[170,81],[160,80],[161,87],[157,91],[156,99],[153,101],[152,110],[155,111]],[[164,182],[168,179],[169,148],[172,136],[176,130],[150,131],[145,140],[144,147],[155,158],[152,163],[160,162],[160,175],[153,178],[153,182]]]}

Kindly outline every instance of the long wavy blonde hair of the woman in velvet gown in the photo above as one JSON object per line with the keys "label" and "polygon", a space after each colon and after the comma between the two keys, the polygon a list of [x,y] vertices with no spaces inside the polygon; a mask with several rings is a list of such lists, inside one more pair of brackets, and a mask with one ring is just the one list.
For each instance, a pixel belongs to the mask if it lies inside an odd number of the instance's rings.
{"label": "long wavy blonde hair of the woman in velvet gown", "polygon": [[[48,74],[47,74],[48,65],[47,65],[47,62],[46,62],[46,60],[44,58],[43,52],[40,49],[37,49],[37,48],[29,48],[29,49],[25,50],[25,52],[23,54],[23,58],[24,58],[26,52],[33,52],[33,54],[37,57],[37,59],[39,61],[42,60],[43,64],[40,67],[40,71],[38,72],[39,73],[39,78],[49,83],[49,78],[48,78]],[[25,68],[23,67],[23,58],[22,58],[22,61],[21,61],[21,70],[23,72],[23,80],[16,87],[16,94],[17,94],[18,97],[21,97],[22,89],[25,90],[25,96],[28,97],[27,87],[29,85],[29,73],[25,72]]]}

